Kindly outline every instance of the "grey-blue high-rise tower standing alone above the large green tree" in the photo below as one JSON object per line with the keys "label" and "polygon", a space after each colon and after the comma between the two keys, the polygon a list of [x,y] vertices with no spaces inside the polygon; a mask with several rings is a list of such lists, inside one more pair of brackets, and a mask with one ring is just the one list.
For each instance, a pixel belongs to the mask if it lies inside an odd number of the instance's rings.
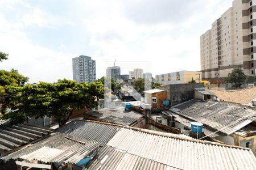
{"label": "grey-blue high-rise tower standing alone above the large green tree", "polygon": [[96,81],[96,61],[88,56],[72,58],[73,80],[76,82],[95,82]]}

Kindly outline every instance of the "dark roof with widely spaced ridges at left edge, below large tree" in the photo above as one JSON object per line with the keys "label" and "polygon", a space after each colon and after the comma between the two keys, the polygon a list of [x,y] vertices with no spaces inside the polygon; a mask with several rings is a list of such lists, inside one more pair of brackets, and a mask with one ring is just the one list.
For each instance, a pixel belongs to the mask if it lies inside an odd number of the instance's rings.
{"label": "dark roof with widely spaced ridges at left edge, below large tree", "polygon": [[11,128],[7,126],[0,127],[0,155],[7,151],[11,151],[16,147],[25,145],[30,141],[34,141],[44,135],[52,133],[52,129],[31,126],[26,124],[13,125]]}

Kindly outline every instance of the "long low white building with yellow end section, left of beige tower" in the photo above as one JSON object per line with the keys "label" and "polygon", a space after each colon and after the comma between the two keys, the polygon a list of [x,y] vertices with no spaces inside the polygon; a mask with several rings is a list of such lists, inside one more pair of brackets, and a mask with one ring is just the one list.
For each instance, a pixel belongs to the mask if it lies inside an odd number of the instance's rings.
{"label": "long low white building with yellow end section, left of beige tower", "polygon": [[173,73],[160,74],[155,76],[155,82],[161,84],[180,84],[188,83],[195,80],[200,83],[202,80],[202,73],[198,71],[178,71]]}

